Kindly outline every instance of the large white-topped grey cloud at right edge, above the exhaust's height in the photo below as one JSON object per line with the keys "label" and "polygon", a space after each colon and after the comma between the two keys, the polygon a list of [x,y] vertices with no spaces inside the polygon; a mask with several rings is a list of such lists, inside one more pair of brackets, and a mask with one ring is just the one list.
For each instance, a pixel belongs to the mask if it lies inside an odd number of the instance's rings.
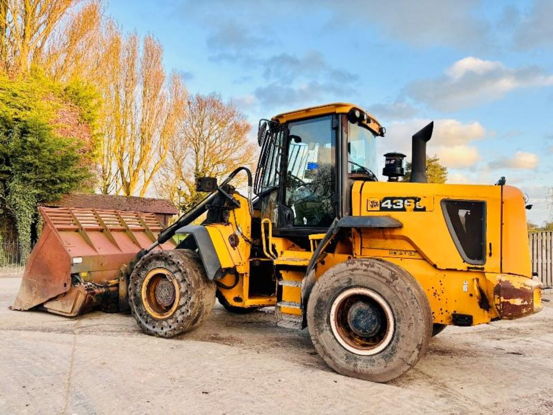
{"label": "large white-topped grey cloud at right edge, above the exhaust's height", "polygon": [[468,56],[434,79],[411,82],[406,94],[441,111],[455,111],[498,100],[524,87],[551,86],[553,75],[536,66],[508,68],[499,61]]}

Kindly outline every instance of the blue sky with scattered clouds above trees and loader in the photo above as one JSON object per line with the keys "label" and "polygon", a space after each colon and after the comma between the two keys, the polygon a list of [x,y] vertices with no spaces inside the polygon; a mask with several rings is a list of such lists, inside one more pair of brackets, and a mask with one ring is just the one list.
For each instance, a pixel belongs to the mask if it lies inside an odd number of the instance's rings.
{"label": "blue sky with scattered clouds above trees and loader", "polygon": [[106,13],[154,35],[191,94],[220,93],[254,126],[354,102],[387,128],[381,154],[410,154],[411,135],[434,120],[429,152],[449,182],[504,175],[529,195],[530,220],[549,219],[551,0],[111,0]]}

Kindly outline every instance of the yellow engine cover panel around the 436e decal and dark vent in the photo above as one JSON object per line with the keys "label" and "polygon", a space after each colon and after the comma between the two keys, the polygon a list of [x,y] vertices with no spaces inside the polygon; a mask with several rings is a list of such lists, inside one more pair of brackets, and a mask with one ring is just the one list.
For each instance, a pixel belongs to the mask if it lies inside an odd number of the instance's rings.
{"label": "yellow engine cover panel around the 436e decal and dark vent", "polygon": [[[421,198],[426,211],[379,211],[383,198]],[[463,261],[447,228],[441,201],[444,199],[486,201],[486,263],[474,266]],[[358,181],[352,189],[353,216],[390,216],[403,227],[370,229],[354,241],[356,256],[422,257],[440,269],[479,269],[500,272],[501,186]],[[492,255],[489,255],[489,244]],[[371,250],[378,249],[380,252]],[[385,252],[388,250],[388,252]]]}

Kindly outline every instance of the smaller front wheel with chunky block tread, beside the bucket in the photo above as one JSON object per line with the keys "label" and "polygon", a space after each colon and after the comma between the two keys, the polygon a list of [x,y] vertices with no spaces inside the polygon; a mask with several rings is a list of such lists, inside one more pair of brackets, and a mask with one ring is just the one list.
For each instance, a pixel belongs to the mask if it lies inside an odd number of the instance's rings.
{"label": "smaller front wheel with chunky block tread, beside the bucket", "polygon": [[190,250],[152,251],[129,278],[129,305],[140,328],[158,337],[194,330],[211,313],[215,283]]}

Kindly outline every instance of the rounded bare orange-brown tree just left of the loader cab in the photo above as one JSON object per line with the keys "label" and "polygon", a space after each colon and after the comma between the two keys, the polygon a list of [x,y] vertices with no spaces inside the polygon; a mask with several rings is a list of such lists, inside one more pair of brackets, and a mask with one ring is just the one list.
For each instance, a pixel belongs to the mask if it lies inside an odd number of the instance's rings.
{"label": "rounded bare orange-brown tree just left of the loader cab", "polygon": [[[237,107],[217,94],[190,97],[180,135],[171,141],[168,158],[156,182],[158,193],[188,210],[205,194],[197,177],[225,178],[240,165],[251,167],[256,146],[248,142],[251,126]],[[180,190],[179,190],[180,188]]]}

